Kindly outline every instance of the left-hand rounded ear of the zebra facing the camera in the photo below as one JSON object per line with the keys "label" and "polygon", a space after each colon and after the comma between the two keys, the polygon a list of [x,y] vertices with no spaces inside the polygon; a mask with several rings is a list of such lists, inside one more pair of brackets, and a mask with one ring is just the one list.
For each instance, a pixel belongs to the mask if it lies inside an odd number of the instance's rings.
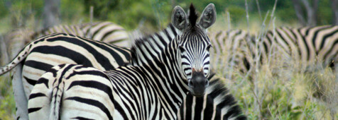
{"label": "left-hand rounded ear of the zebra facing the camera", "polygon": [[173,10],[173,15],[171,16],[171,22],[178,28],[178,30],[183,30],[187,27],[187,15],[185,11],[180,6],[175,6]]}

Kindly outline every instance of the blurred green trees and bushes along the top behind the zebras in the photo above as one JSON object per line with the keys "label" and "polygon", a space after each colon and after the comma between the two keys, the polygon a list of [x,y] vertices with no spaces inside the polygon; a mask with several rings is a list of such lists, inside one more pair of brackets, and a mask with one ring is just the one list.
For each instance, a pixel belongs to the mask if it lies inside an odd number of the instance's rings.
{"label": "blurred green trees and bushes along the top behind the zebras", "polygon": [[[165,27],[170,22],[172,8],[176,5],[187,8],[190,3],[194,3],[199,11],[209,4],[214,3],[217,8],[217,22],[225,22],[227,13],[231,16],[231,25],[235,28],[246,22],[246,9],[244,0],[59,0],[58,23],[77,24],[90,21],[90,7],[94,7],[93,18],[97,20],[109,20],[122,25],[127,30],[133,30],[146,25],[147,27],[158,30]],[[256,0],[248,0],[249,16],[251,21],[261,22],[267,11],[272,10],[273,0],[259,0],[259,9]],[[43,0],[1,0],[0,1],[0,23],[1,31],[6,32],[13,28],[28,27],[43,28],[42,20],[44,17]],[[277,20],[283,21],[280,25],[298,24],[298,17],[295,11],[295,0],[278,1],[275,16]],[[311,5],[317,4],[315,25],[332,24],[332,1],[321,0],[320,2],[310,1]],[[306,15],[305,6],[300,12]],[[261,11],[259,13],[258,11]],[[299,24],[301,25],[301,24]]]}

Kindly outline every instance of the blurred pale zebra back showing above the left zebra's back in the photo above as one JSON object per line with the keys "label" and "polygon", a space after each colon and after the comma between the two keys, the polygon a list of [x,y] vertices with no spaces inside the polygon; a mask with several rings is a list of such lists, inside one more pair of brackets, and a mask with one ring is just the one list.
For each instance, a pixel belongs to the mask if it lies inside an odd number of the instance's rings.
{"label": "blurred pale zebra back showing above the left zebra's back", "polygon": [[67,33],[86,37],[90,40],[98,40],[109,44],[114,44],[120,47],[131,47],[129,33],[120,25],[109,21],[82,23],[80,25],[55,25],[51,28],[45,28],[38,32],[34,32],[31,39],[50,35],[53,33]]}

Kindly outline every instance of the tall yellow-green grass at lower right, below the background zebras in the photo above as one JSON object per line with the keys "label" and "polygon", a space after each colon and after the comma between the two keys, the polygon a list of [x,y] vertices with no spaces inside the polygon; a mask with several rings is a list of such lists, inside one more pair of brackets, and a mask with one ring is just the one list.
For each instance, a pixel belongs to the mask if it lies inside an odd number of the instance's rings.
{"label": "tall yellow-green grass at lower right, below the background zebras", "polygon": [[249,119],[338,119],[338,83],[332,68],[319,61],[303,63],[276,46],[273,49],[268,60],[247,74],[227,61],[233,52],[212,59],[222,61],[213,66],[216,77],[224,80],[244,114]]}

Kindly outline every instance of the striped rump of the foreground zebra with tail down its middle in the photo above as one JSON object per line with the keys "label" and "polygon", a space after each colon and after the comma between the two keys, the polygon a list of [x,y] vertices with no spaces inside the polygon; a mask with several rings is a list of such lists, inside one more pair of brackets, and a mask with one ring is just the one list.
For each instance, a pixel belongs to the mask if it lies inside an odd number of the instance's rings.
{"label": "striped rump of the foreground zebra with tail down its middle", "polygon": [[109,78],[97,68],[54,66],[34,85],[28,100],[29,119],[112,119],[116,112],[109,98],[114,97],[99,90],[111,88]]}

